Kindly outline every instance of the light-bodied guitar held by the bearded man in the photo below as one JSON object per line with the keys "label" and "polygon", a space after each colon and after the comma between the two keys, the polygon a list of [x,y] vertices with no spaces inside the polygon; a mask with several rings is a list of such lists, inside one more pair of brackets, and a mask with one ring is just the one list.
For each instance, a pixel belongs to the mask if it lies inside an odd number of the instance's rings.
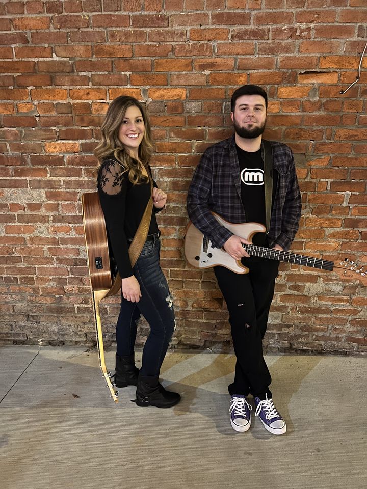
{"label": "light-bodied guitar held by the bearded man", "polygon": [[[212,214],[219,224],[225,226],[233,234],[251,242],[251,244],[242,243],[243,248],[249,255],[296,265],[309,266],[312,268],[320,268],[322,270],[335,271],[339,277],[343,279],[357,279],[363,285],[367,285],[366,267],[360,267],[348,258],[339,259],[334,262],[257,246],[256,244],[252,244],[252,238],[254,234],[258,232],[265,233],[265,226],[258,223],[231,224],[215,212],[212,212]],[[249,269],[241,263],[241,260],[235,260],[223,249],[215,248],[211,240],[196,229],[192,223],[189,224],[185,236],[185,255],[190,265],[195,268],[211,268],[213,266],[221,265],[237,274],[247,274],[249,271]]]}

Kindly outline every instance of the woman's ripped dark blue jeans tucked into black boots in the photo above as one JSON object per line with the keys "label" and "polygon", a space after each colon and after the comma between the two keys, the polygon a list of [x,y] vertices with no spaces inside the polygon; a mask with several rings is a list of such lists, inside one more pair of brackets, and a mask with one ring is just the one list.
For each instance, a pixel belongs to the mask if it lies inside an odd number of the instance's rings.
{"label": "woman's ripped dark blue jeans tucked into black boots", "polygon": [[134,352],[137,324],[143,314],[150,333],[143,349],[141,375],[159,375],[169,342],[175,329],[175,315],[166,277],[160,266],[160,240],[153,235],[147,240],[133,268],[141,297],[138,303],[121,298],[116,325],[117,355]]}

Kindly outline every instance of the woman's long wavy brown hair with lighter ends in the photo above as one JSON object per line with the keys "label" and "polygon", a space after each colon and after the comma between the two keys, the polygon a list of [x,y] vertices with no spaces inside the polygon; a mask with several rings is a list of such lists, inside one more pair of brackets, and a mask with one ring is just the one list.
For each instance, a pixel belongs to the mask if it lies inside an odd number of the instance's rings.
{"label": "woman's long wavy brown hair with lighter ends", "polygon": [[[118,133],[122,120],[128,107],[135,105],[139,108],[144,121],[144,136],[139,146],[140,162],[130,156],[118,138]],[[146,183],[147,177],[142,174],[141,163],[146,167],[153,152],[153,141],[151,138],[150,124],[145,107],[134,97],[121,95],[115,98],[108,108],[106,117],[101,125],[101,142],[94,150],[94,155],[98,159],[98,172],[104,159],[113,155],[122,167],[121,174],[126,173],[128,179],[133,184]]]}

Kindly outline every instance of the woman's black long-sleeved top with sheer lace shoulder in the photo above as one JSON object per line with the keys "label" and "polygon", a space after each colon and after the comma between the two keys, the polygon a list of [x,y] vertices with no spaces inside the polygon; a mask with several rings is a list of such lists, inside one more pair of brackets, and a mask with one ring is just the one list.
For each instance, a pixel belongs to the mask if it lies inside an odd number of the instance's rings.
{"label": "woman's black long-sleeved top with sheer lace shoulder", "polygon": [[[126,278],[134,275],[128,239],[134,238],[142,220],[150,199],[150,183],[134,185],[127,172],[120,175],[122,170],[113,156],[108,157],[99,168],[97,186],[112,253],[121,278]],[[148,171],[151,173],[150,167]],[[156,187],[154,181],[153,185]],[[148,234],[158,232],[155,212],[153,207]]]}

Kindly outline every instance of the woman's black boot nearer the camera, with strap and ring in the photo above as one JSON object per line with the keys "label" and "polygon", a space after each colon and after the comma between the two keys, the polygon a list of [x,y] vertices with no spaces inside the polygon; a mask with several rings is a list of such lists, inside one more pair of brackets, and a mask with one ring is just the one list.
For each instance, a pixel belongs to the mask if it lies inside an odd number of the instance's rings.
{"label": "woman's black boot nearer the camera, with strap and ring", "polygon": [[143,377],[139,375],[137,393],[134,402],[141,408],[155,406],[155,408],[172,408],[179,402],[181,396],[177,392],[166,391],[158,382],[157,377]]}

